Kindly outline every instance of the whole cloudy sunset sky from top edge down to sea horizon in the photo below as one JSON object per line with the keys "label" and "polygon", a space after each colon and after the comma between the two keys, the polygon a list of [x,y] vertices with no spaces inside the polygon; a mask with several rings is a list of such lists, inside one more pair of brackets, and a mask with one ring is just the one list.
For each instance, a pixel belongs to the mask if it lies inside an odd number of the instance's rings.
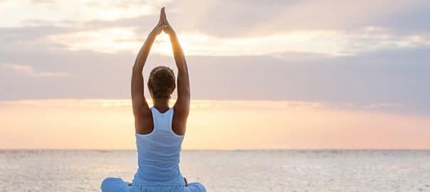
{"label": "whole cloudy sunset sky from top edge down to sea horizon", "polygon": [[[133,149],[131,67],[162,6],[191,75],[184,149],[430,149],[430,2],[386,0],[0,0],[0,149]],[[156,65],[174,68],[164,33]]]}

